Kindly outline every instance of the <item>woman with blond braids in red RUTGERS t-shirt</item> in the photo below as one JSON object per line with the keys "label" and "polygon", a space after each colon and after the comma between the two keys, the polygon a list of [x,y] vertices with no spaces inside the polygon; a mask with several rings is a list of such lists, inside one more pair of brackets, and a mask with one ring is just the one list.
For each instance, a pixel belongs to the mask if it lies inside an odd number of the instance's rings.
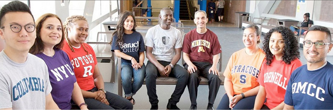
{"label": "woman with blond braids in red RUTGERS t-shirt", "polygon": [[68,17],[64,23],[67,42],[63,48],[71,60],[88,109],[133,109],[129,100],[104,90],[104,81],[95,52],[90,45],[84,43],[88,37],[88,29],[85,17],[79,15]]}

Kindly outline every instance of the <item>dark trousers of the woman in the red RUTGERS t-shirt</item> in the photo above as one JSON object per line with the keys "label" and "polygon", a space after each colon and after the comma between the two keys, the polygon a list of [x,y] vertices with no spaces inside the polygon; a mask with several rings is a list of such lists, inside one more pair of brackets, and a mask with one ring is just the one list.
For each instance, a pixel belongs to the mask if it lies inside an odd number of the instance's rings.
{"label": "dark trousers of the woman in the red RUTGERS t-shirt", "polygon": [[[98,91],[98,89],[94,87],[89,91],[95,92]],[[106,92],[105,97],[109,101],[110,105],[106,105],[99,100],[95,100],[94,98],[84,98],[84,101],[88,105],[89,110],[114,110],[114,109],[132,110],[133,109],[133,105],[129,100],[117,94]]]}

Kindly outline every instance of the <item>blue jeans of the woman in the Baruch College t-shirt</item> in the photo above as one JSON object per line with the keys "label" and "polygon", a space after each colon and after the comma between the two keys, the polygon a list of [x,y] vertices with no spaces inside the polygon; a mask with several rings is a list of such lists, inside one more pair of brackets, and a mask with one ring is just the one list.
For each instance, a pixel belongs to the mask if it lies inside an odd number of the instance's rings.
{"label": "blue jeans of the woman in the Baruch College t-shirt", "polygon": [[[144,83],[144,78],[146,75],[146,66],[142,65],[141,68],[135,70],[132,67],[132,63],[130,62],[122,62],[122,83],[126,97],[130,97],[135,95],[137,91],[141,88]],[[132,77],[134,79],[132,83]]]}

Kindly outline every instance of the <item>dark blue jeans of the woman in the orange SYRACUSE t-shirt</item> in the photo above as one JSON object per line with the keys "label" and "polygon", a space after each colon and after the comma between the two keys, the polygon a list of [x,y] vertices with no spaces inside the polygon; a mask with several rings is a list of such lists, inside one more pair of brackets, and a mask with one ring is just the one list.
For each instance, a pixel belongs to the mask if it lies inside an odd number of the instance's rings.
{"label": "dark blue jeans of the woman in the orange SYRACUSE t-shirt", "polygon": [[[232,108],[233,110],[251,110],[254,107],[255,96],[245,97],[240,99],[236,105]],[[216,110],[231,110],[229,108],[229,97],[227,93],[225,93],[218,104]]]}

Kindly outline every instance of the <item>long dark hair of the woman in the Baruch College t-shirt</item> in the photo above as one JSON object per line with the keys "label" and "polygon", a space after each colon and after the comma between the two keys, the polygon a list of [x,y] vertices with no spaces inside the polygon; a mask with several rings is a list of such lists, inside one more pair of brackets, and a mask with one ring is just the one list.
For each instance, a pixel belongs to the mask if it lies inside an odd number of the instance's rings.
{"label": "long dark hair of the woman in the Baruch College t-shirt", "polygon": [[[137,24],[135,23],[135,17],[133,15],[133,13],[129,12],[129,11],[125,11],[123,13],[123,16],[120,18],[120,21],[118,21],[118,24],[117,24],[117,29],[116,31],[112,34],[112,37],[113,36],[117,36],[117,41],[116,41],[116,45],[119,45],[119,43],[123,43],[123,36],[124,36],[124,22],[125,20],[127,19],[127,17],[129,16],[132,16],[133,19],[134,19],[134,26],[133,26],[133,29],[132,31],[135,31],[135,27],[137,27]],[[113,39],[111,39],[110,41],[110,44],[112,44],[112,41]]]}

